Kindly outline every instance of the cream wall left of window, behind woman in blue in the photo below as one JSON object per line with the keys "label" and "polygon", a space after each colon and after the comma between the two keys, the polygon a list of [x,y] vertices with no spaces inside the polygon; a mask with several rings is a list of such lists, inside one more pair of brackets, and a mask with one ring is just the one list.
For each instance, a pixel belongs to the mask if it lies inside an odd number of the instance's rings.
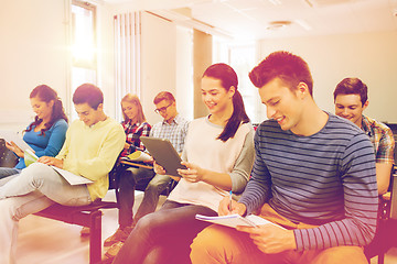
{"label": "cream wall left of window, behind woman in blue", "polygon": [[0,129],[29,124],[34,117],[29,95],[37,85],[49,85],[65,100],[65,21],[63,0],[1,1]]}

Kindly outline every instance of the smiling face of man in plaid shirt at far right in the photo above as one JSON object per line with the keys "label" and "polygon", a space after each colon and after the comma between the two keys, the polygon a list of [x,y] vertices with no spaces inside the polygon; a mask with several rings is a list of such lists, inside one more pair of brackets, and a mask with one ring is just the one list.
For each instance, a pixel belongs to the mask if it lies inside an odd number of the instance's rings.
{"label": "smiling face of man in plaid shirt at far right", "polygon": [[335,114],[352,121],[361,128],[363,111],[367,106],[368,101],[363,106],[360,95],[337,95],[335,98]]}

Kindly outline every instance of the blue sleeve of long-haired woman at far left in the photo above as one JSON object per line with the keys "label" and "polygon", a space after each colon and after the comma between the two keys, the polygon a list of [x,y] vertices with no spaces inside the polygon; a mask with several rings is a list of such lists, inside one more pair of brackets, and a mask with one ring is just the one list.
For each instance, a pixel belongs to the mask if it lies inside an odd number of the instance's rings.
{"label": "blue sleeve of long-haired woman at far left", "polygon": [[35,152],[35,155],[41,156],[56,156],[61,151],[66,136],[67,123],[63,119],[53,124],[52,132],[49,139],[49,144],[43,151]]}

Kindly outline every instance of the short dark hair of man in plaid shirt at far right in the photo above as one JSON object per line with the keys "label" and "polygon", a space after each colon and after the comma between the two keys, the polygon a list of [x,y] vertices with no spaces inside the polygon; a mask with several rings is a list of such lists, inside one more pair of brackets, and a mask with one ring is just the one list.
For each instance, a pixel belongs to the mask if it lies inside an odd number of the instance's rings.
{"label": "short dark hair of man in plaid shirt at far right", "polygon": [[368,100],[368,88],[358,78],[344,78],[336,85],[334,90],[334,102],[339,95],[358,95],[361,97],[362,106]]}

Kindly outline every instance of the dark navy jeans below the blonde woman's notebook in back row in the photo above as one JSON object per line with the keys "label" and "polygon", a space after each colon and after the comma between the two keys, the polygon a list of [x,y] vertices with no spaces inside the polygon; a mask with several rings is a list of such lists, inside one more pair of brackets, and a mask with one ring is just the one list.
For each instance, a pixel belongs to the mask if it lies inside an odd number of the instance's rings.
{"label": "dark navy jeans below the blonde woman's notebook in back row", "polygon": [[119,202],[118,220],[120,228],[124,229],[132,224],[132,207],[135,202],[135,190],[137,184],[142,180],[148,180],[154,175],[153,169],[131,167],[121,170],[119,194],[117,201]]}

